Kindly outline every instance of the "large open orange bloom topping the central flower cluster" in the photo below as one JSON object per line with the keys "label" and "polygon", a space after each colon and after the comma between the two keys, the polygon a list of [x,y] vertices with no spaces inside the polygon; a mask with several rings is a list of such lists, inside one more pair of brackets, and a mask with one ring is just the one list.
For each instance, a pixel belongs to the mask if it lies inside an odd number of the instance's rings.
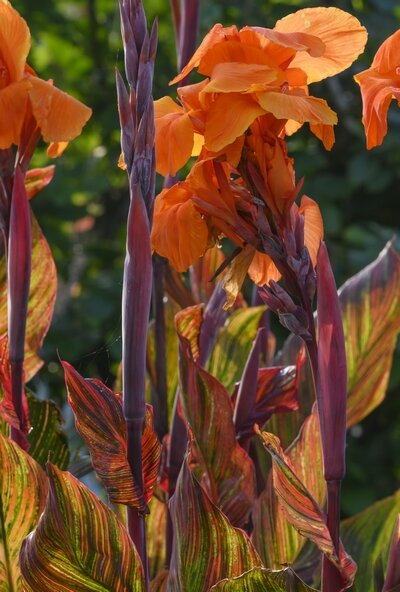
{"label": "large open orange bloom topping the central flower cluster", "polygon": [[[334,7],[299,10],[278,21],[274,29],[215,25],[171,82],[179,82],[193,68],[207,77],[178,91],[182,107],[171,101],[170,111],[160,113],[159,137],[161,130],[167,135],[163,135],[164,149],[159,153],[168,151],[168,144],[171,151],[177,144],[182,147],[179,158],[164,154],[159,170],[166,170],[171,160],[175,168],[187,162],[194,133],[204,137],[209,152],[220,153],[265,114],[284,121],[286,133],[308,122],[330,149],[336,113],[326,101],[309,95],[308,84],[350,66],[363,51],[366,39],[359,21]],[[183,122],[188,117],[191,122],[191,126],[185,122],[185,139],[181,135],[180,141],[174,135],[177,127],[170,128],[169,141],[167,121],[172,113],[175,120]],[[183,127],[183,123],[179,125]]]}

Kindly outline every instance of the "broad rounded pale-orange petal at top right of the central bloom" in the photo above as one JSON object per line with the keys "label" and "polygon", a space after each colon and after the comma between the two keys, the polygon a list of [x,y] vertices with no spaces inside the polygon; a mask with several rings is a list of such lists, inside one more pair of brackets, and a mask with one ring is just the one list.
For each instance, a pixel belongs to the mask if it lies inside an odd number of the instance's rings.
{"label": "broad rounded pale-orange petal at top right of the central bloom", "polygon": [[282,33],[308,33],[318,37],[325,45],[320,57],[299,52],[291,66],[306,72],[308,82],[318,82],[342,72],[364,51],[367,31],[358,19],[335,8],[304,8],[279,20],[275,30]]}

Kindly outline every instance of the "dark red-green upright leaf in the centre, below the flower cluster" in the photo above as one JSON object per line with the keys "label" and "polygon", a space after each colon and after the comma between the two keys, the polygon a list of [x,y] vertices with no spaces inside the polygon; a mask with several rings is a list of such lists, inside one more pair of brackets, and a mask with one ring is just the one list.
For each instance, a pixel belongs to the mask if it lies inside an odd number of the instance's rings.
{"label": "dark red-green upright leaf in the centre, below the flower cluster", "polygon": [[209,494],[232,524],[243,526],[255,498],[253,463],[236,440],[227,390],[193,359],[190,341],[182,333],[179,338],[182,408],[196,439]]}

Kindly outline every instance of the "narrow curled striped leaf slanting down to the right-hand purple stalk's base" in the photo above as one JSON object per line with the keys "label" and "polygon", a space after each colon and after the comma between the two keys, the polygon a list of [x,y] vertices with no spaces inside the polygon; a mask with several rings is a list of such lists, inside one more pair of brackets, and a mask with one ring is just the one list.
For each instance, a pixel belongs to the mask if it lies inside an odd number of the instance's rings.
{"label": "narrow curled striped leaf slanting down to the right-hand purple stalk's base", "polygon": [[260,432],[263,444],[272,457],[272,476],[279,503],[290,524],[304,537],[314,542],[337,567],[342,585],[352,585],[357,566],[340,544],[339,556],[326,526],[326,515],[311,493],[296,475],[290,459],[283,452],[274,434]]}

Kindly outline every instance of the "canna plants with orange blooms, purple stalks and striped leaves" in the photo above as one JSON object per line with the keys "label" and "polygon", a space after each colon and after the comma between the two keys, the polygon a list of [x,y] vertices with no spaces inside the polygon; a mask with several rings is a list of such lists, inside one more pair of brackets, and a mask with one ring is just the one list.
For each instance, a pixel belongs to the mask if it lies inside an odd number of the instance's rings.
{"label": "canna plants with orange blooms, purple stalks and striped leaves", "polygon": [[[307,123],[332,148],[337,116],[308,85],[350,67],[366,31],[308,8],[273,29],[215,25],[194,51],[199,4],[173,2],[179,103],[153,103],[157,24],[140,0],[119,8],[122,384],[62,361],[105,503],[72,474],[54,404],[24,387],[56,288],[29,204],[54,167],[28,166],[41,138],[61,155],[90,109],[26,64],[29,29],[0,0],[0,590],[394,591],[400,493],[341,523],[340,492],[346,430],[385,397],[400,257],[389,243],[337,291],[286,143]],[[356,76],[369,148],[397,98],[398,38]],[[194,68],[205,78],[189,84]],[[271,313],[290,333],[281,352]]]}

